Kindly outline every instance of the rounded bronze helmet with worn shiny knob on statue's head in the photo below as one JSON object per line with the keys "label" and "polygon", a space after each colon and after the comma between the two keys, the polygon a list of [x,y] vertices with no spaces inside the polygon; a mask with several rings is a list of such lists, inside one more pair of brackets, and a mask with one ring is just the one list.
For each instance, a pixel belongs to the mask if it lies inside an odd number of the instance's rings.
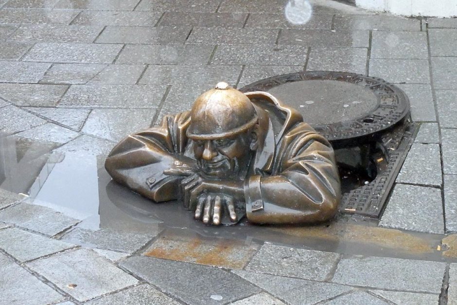
{"label": "rounded bronze helmet with worn shiny knob on statue's head", "polygon": [[257,123],[257,112],[241,91],[220,82],[195,100],[187,136],[194,140],[230,137]]}

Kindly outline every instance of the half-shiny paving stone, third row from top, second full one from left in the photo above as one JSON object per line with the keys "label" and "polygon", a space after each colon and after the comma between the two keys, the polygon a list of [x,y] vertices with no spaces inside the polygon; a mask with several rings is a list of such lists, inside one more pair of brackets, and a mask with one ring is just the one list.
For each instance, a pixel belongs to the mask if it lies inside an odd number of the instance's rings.
{"label": "half-shiny paving stone, third row from top, second full one from left", "polygon": [[145,26],[107,26],[97,38],[97,43],[184,43],[190,33],[189,26],[145,27]]}

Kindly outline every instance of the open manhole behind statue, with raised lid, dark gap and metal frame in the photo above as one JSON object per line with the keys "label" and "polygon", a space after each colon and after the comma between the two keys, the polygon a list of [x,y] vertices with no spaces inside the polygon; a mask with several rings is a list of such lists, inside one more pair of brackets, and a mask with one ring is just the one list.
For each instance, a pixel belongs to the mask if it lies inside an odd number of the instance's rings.
{"label": "open manhole behind statue, with raised lid, dark gap and metal frame", "polygon": [[380,78],[333,71],[278,75],[240,90],[272,93],[330,140],[342,182],[342,213],[382,215],[417,132],[402,90]]}

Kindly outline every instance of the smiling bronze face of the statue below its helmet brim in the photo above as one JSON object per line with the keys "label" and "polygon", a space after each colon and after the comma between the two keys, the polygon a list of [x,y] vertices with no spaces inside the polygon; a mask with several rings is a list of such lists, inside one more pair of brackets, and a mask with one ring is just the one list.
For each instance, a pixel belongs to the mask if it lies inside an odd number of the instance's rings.
{"label": "smiling bronze face of the statue below its helmet brim", "polygon": [[252,156],[250,133],[216,140],[194,140],[193,152],[202,176],[212,179],[244,178]]}

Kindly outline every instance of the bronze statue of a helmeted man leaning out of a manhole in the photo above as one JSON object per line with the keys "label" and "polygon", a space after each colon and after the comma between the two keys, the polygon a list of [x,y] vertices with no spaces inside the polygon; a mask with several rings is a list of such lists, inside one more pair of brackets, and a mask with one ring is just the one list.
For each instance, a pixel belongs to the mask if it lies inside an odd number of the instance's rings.
{"label": "bronze statue of a helmeted man leaning out of a manhole", "polygon": [[333,148],[297,110],[224,82],[191,111],[129,135],[105,167],[153,201],[183,200],[205,224],[315,223],[341,198]]}

